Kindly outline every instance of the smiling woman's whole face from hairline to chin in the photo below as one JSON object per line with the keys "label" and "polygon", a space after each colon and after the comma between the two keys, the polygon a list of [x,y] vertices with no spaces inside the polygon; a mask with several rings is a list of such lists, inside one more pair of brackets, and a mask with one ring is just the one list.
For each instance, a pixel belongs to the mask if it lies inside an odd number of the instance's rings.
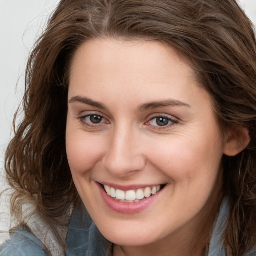
{"label": "smiling woman's whole face from hairline to chin", "polygon": [[170,47],[95,39],[77,50],[67,157],[108,240],[140,246],[200,230],[220,190],[225,137],[209,94]]}

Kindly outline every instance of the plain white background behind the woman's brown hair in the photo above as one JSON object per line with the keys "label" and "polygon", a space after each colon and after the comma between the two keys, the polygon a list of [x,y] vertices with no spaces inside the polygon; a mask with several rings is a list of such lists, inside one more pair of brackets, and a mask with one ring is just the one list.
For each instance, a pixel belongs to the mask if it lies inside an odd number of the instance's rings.
{"label": "plain white background behind the woman's brown hair", "polygon": [[[0,0],[0,191],[4,181],[4,150],[13,135],[12,119],[24,84],[26,60],[45,20],[59,0]],[[240,0],[249,18],[256,24],[256,0]],[[9,229],[8,200],[0,198],[0,231]],[[6,239],[0,233],[0,244]]]}

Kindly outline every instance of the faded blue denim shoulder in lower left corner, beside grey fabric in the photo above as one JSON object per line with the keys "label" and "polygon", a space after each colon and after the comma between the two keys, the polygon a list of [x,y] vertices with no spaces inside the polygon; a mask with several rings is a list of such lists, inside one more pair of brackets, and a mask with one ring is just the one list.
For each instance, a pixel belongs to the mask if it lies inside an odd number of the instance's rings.
{"label": "faded blue denim shoulder in lower left corner, beside grey fabric", "polygon": [[1,256],[49,256],[41,241],[26,226],[10,231],[10,240],[0,247]]}

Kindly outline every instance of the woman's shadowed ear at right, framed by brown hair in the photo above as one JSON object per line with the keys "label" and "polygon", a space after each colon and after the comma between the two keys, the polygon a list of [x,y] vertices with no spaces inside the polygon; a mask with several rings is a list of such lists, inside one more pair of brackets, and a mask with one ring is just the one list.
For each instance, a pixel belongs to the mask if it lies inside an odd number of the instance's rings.
{"label": "woman's shadowed ear at right, framed by brown hair", "polygon": [[250,142],[249,131],[244,127],[234,127],[227,132],[227,139],[223,147],[223,154],[235,156]]}

